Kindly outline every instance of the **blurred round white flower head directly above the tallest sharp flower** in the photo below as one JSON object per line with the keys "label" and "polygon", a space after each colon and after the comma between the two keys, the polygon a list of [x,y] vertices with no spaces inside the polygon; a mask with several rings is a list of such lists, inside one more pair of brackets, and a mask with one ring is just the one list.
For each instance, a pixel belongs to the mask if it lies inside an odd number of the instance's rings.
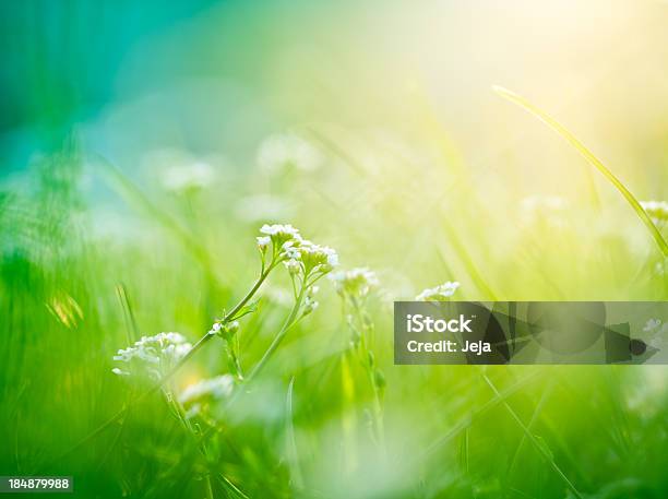
{"label": "blurred round white flower head directly above the tallest sharp flower", "polygon": [[313,171],[320,167],[323,157],[320,151],[294,133],[266,138],[258,151],[258,165],[272,174],[295,168]]}

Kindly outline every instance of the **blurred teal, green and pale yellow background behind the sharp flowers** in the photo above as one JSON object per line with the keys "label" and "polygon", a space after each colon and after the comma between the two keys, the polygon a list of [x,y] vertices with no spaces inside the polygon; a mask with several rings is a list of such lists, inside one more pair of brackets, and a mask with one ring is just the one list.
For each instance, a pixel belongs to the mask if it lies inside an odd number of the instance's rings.
{"label": "blurred teal, green and pale yellow background behind the sharp flowers", "polygon": [[[33,0],[0,23],[0,474],[91,498],[205,497],[212,468],[213,497],[666,496],[661,366],[395,367],[391,329],[393,300],[445,281],[668,299],[627,201],[492,91],[668,200],[666,2]],[[257,277],[264,223],[378,274],[383,444],[329,283],[205,463],[157,394],[86,437],[136,390],[116,351],[204,334]],[[283,274],[242,320],[244,368],[288,313]],[[176,384],[227,371],[212,343]]]}

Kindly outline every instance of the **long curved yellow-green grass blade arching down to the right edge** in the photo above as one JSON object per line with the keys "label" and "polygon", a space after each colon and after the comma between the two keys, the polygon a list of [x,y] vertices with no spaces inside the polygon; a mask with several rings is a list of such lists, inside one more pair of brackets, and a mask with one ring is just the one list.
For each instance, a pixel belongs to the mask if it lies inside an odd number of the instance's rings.
{"label": "long curved yellow-green grass blade arching down to the right edge", "polygon": [[643,210],[643,207],[637,202],[635,197],[631,193],[631,191],[627,189],[627,187],[615,176],[615,174],[612,174],[612,171],[610,171],[600,162],[600,159],[598,159],[594,155],[594,153],[592,153],[592,151],[585,147],[585,145],[582,142],[580,142],[575,138],[575,135],[573,135],[569,130],[566,130],[559,121],[557,121],[550,115],[545,112],[542,109],[539,109],[538,107],[536,107],[535,105],[526,100],[524,97],[506,88],[503,88],[502,86],[498,86],[498,85],[492,86],[492,90],[497,94],[499,94],[501,97],[505,98],[506,100],[510,100],[511,103],[516,104],[517,106],[524,108],[525,110],[534,115],[540,121],[542,121],[548,127],[550,127],[552,130],[554,130],[557,133],[559,133],[573,147],[575,147],[575,150],[577,150],[577,152],[592,166],[594,166],[598,171],[600,171],[617,188],[617,190],[621,192],[621,194],[629,202],[631,207],[635,211],[635,214],[639,216],[639,218],[643,222],[643,224],[645,224],[645,226],[647,227],[647,230],[649,230],[649,234],[652,234],[652,237],[656,241],[656,245],[659,247],[659,250],[661,251],[664,257],[668,257],[668,242],[666,242],[659,229],[656,227],[656,225],[654,225],[649,215],[647,215],[645,210]]}

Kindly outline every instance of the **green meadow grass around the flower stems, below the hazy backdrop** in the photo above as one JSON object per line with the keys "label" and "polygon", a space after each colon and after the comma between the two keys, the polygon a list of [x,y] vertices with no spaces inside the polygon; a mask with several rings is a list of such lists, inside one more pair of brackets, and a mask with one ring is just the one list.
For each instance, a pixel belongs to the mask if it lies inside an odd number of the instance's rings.
{"label": "green meadow grass around the flower stems, below the hazy backdrop", "polygon": [[[231,211],[254,173],[220,199],[140,188],[94,158],[118,205],[136,207],[102,235],[74,143],[34,165],[29,188],[4,191],[3,474],[73,475],[79,497],[109,498],[664,497],[660,366],[392,361],[389,304],[445,281],[466,299],[667,299],[661,258],[622,226],[633,221],[595,234],[561,212],[521,222],[449,191],[448,161],[417,179],[397,166],[390,180],[357,159],[368,151],[336,148],[355,166],[324,170],[321,192],[297,175],[279,192],[297,204],[293,219],[264,222],[331,243],[343,269],[368,265],[368,289],[357,273],[311,295],[311,280],[293,287],[283,260],[272,266],[262,224]],[[342,186],[351,195],[336,195]],[[195,347],[157,381],[111,372],[119,348],[162,331]],[[241,390],[188,414],[179,394],[220,375]]]}

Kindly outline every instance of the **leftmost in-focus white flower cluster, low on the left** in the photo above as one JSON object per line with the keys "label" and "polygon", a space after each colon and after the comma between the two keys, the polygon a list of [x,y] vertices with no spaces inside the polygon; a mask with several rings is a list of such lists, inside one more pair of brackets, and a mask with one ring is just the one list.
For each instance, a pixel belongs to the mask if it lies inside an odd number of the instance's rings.
{"label": "leftmost in-focus white flower cluster, low on the left", "polygon": [[165,376],[188,352],[192,345],[179,333],[159,333],[142,336],[128,348],[121,348],[114,360],[124,363],[123,368],[114,368],[119,376],[145,375],[154,380]]}

